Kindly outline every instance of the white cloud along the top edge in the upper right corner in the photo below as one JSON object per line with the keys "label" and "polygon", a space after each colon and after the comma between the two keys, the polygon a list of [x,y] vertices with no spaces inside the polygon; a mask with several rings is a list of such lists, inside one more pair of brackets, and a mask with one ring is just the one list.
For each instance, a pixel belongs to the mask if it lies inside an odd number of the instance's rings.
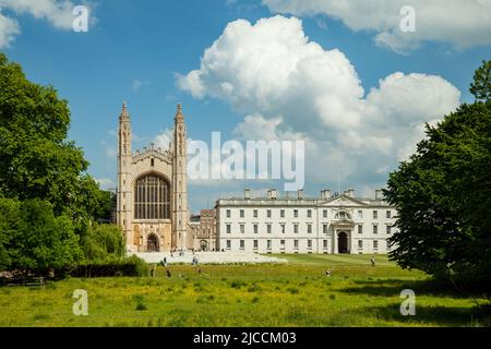
{"label": "white cloud along the top edge in the upper right corner", "polygon": [[[354,31],[375,32],[375,43],[395,51],[428,40],[457,48],[491,44],[491,0],[263,0],[275,13],[325,14]],[[403,33],[400,9],[416,10],[416,32]]]}

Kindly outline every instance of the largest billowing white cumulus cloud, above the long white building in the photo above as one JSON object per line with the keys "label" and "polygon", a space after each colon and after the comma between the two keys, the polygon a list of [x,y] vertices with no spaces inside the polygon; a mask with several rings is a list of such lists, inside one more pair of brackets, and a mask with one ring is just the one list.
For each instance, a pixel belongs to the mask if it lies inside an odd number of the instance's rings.
{"label": "largest billowing white cumulus cloud, above the long white building", "polygon": [[424,122],[460,99],[440,76],[400,72],[366,94],[343,52],[309,40],[300,20],[279,15],[229,23],[178,84],[244,115],[235,129],[239,139],[306,141],[307,179],[314,182],[337,174],[384,181],[421,140]]}

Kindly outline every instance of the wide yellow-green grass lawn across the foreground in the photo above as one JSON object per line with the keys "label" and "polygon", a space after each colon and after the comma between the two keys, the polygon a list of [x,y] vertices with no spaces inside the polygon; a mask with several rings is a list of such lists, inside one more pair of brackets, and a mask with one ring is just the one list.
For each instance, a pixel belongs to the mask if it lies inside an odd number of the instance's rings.
{"label": "wide yellow-green grass lawn across the foreground", "polygon": [[[436,287],[385,256],[278,255],[285,265],[191,265],[156,277],[70,278],[41,287],[1,287],[0,326],[482,326],[472,298]],[[325,270],[332,269],[326,277]],[[403,289],[416,315],[402,316]],[[75,289],[88,315],[75,316]],[[477,299],[484,302],[483,299]]]}

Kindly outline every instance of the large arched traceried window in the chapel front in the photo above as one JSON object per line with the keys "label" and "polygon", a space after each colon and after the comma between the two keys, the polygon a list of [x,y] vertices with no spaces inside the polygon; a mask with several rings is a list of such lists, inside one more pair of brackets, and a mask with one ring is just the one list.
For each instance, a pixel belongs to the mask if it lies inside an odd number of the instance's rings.
{"label": "large arched traceried window in the chapel front", "polygon": [[170,218],[170,185],[157,174],[140,177],[134,183],[134,218]]}

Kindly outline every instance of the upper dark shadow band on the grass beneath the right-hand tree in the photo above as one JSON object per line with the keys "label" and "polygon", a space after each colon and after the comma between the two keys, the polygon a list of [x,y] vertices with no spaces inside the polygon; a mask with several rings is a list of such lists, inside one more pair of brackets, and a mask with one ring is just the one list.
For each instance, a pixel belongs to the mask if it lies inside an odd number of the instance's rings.
{"label": "upper dark shadow band on the grass beneath the right-hand tree", "polygon": [[367,294],[373,297],[399,296],[402,290],[411,289],[417,296],[440,296],[457,299],[481,297],[481,293],[458,292],[451,282],[440,280],[354,280],[355,287],[343,288],[339,291],[350,294]]}

